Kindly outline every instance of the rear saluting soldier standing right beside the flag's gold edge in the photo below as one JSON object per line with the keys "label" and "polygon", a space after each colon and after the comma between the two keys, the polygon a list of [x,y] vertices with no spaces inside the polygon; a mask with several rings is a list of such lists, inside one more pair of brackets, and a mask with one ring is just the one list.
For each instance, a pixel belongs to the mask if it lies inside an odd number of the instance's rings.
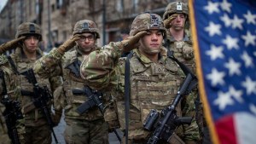
{"label": "rear saluting soldier standing right beside the flag's gold edge", "polygon": [[[166,11],[163,15],[164,24],[167,29],[166,37],[166,47],[171,49],[173,55],[177,60],[183,62],[188,66],[193,72],[195,72],[195,57],[192,47],[191,37],[189,36],[189,9],[185,3],[182,2],[172,2],[166,7]],[[187,31],[186,31],[187,30]],[[198,91],[195,89],[189,96],[186,97],[187,100],[184,105],[187,105],[187,110],[185,112],[189,113],[191,116],[196,116],[196,123],[199,125],[201,136],[203,129],[202,120],[202,109],[201,102],[199,100]],[[189,109],[188,105],[194,105],[193,109]],[[196,111],[195,111],[196,109]],[[196,112],[196,114],[195,114]],[[191,131],[191,127],[195,126],[193,121],[188,127],[184,128],[186,130],[185,135],[188,139],[193,139],[195,136],[194,131]],[[192,129],[194,130],[194,129]]]}

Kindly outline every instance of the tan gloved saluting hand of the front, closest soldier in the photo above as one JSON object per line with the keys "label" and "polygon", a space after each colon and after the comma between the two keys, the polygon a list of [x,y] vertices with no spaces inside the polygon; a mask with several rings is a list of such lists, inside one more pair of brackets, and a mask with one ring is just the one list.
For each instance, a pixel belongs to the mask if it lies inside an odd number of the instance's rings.
{"label": "tan gloved saluting hand of the front, closest soldier", "polygon": [[146,33],[147,33],[146,31],[142,31],[142,32],[138,32],[135,36],[127,37],[125,40],[121,41],[118,44],[119,49],[122,49],[123,53],[125,53],[125,52],[131,51],[132,49],[137,48],[137,46],[136,46],[137,42]]}

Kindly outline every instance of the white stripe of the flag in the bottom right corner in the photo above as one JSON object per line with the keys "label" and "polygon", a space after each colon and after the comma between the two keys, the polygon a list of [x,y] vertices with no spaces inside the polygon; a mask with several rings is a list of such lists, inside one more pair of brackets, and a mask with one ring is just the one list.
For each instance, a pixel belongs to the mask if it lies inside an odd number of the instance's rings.
{"label": "white stripe of the flag in the bottom right corner", "polygon": [[248,112],[235,114],[236,141],[238,144],[256,143],[256,116]]}

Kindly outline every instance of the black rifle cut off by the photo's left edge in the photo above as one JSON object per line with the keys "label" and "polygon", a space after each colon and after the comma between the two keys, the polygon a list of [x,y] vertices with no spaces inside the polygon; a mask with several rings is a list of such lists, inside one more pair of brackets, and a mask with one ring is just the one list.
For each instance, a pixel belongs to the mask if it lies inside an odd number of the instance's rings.
{"label": "black rifle cut off by the photo's left edge", "polygon": [[13,144],[20,144],[20,139],[16,128],[17,120],[23,118],[20,108],[20,101],[9,100],[9,95],[7,94],[3,71],[0,71],[0,78],[3,80],[3,99],[1,102],[5,107],[3,116],[5,119],[5,123],[7,125],[8,135]]}

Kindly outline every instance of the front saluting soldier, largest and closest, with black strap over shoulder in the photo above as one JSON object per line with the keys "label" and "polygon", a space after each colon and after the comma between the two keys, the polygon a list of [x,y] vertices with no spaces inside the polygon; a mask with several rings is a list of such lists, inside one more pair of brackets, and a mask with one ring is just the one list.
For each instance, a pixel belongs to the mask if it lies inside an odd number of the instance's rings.
{"label": "front saluting soldier, largest and closest, with black strap over shoulder", "polygon": [[[129,131],[126,129],[129,143],[148,141],[150,132],[143,129],[145,118],[151,109],[160,111],[169,106],[182,81],[181,69],[167,57],[167,50],[162,46],[164,37],[166,28],[158,14],[140,14],[131,24],[130,37],[90,53],[81,65],[82,78],[91,88],[109,91],[115,96],[121,130],[125,130],[126,123],[125,87],[129,89],[126,91],[130,92],[130,117],[126,119],[129,121]],[[120,58],[131,49],[128,60]],[[125,60],[130,61],[131,71],[126,72],[129,74],[125,74],[128,63]],[[130,85],[125,85],[126,82]],[[181,110],[178,105],[177,115],[181,116]],[[124,138],[122,142],[125,143]]]}

